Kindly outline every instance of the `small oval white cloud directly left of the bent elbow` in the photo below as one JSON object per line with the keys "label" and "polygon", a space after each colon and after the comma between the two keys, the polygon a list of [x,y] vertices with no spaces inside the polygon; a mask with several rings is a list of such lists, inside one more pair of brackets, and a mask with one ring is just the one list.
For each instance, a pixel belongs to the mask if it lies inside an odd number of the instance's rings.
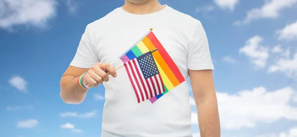
{"label": "small oval white cloud directly left of the bent elbow", "polygon": [[27,84],[28,82],[20,76],[14,76],[9,79],[9,83],[11,86],[17,88],[21,92],[28,93]]}

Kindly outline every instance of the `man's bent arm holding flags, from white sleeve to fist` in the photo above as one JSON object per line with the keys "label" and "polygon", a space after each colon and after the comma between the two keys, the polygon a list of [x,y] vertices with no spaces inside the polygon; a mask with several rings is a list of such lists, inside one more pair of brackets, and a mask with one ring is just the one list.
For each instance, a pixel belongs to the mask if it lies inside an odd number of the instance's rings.
{"label": "man's bent arm holding flags, from white sleeve to fist", "polygon": [[92,32],[94,30],[92,26],[92,24],[87,25],[76,54],[60,80],[60,97],[64,103],[78,104],[85,100],[88,89],[84,89],[78,84],[78,79],[83,73],[86,74],[83,76],[82,83],[84,86],[90,84],[88,88],[97,87],[103,81],[107,82],[106,72],[110,72],[113,77],[116,76],[114,67],[100,63],[98,59],[98,53],[92,40],[96,35]]}

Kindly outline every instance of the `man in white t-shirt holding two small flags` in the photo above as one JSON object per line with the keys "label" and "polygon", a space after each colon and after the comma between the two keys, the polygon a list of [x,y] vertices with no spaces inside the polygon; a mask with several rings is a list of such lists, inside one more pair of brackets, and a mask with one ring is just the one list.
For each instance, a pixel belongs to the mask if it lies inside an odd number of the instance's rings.
{"label": "man in white t-shirt holding two small flags", "polygon": [[[120,55],[153,28],[185,79],[190,76],[201,137],[220,137],[214,69],[201,23],[157,0],[125,0],[87,25],[76,55],[61,78],[65,103],[82,103],[89,88],[104,84],[101,137],[192,137],[187,82],[155,103],[137,103]],[[110,73],[109,74],[107,74]]]}

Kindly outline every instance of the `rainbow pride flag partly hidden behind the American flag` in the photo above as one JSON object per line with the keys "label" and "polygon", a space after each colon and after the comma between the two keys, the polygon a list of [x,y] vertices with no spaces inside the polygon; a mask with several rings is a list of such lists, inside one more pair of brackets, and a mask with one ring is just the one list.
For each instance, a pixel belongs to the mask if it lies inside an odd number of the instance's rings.
{"label": "rainbow pride flag partly hidden behind the American flag", "polygon": [[151,103],[154,103],[168,91],[185,81],[184,76],[177,68],[176,64],[152,31],[120,57],[122,62],[126,63],[155,48],[157,48],[157,50],[152,53],[152,56],[160,72],[165,92],[150,98],[149,101]]}

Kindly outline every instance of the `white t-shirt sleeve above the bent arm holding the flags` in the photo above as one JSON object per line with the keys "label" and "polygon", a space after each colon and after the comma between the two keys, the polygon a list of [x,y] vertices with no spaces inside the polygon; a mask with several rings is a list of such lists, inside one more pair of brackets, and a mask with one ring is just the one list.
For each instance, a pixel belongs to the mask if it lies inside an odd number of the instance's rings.
{"label": "white t-shirt sleeve above the bent arm holding the flags", "polygon": [[93,65],[99,62],[91,36],[92,35],[88,25],[81,37],[76,54],[71,61],[70,66],[78,68],[91,68]]}

